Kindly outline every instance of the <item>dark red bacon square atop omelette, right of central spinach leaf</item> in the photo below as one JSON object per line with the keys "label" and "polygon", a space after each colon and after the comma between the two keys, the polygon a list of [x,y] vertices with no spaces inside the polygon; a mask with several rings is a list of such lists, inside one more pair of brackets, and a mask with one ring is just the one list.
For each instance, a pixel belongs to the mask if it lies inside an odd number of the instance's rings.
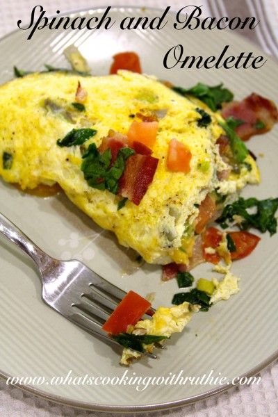
{"label": "dark red bacon square atop omelette, right of central spinach leaf", "polygon": [[119,180],[118,193],[138,206],[149,184],[152,183],[157,164],[158,159],[153,156],[140,154],[129,156],[124,174]]}

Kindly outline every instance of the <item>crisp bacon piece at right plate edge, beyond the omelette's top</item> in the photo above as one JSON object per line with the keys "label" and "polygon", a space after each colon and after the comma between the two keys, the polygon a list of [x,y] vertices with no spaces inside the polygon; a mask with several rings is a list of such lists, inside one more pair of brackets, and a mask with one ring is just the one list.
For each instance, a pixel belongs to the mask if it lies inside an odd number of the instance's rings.
{"label": "crisp bacon piece at right plate edge, beyond the omelette's top", "polygon": [[[222,116],[224,119],[233,116],[235,119],[245,122],[236,128],[236,133],[242,140],[248,140],[251,136],[265,133],[278,122],[275,104],[254,92],[242,101],[231,101],[231,103],[224,104]],[[262,122],[263,126],[258,129],[259,122]]]}

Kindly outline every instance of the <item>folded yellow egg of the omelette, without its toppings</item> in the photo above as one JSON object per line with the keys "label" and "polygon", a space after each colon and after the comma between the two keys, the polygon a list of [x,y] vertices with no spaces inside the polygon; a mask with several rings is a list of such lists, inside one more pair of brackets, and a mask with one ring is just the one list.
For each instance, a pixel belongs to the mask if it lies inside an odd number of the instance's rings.
{"label": "folded yellow egg of the omelette, without its toppings", "polygon": [[[85,92],[84,104],[76,103],[76,86]],[[206,126],[198,124],[200,109],[210,116]],[[98,181],[92,186],[82,169],[84,157],[90,150],[98,152],[111,132],[126,136],[142,115],[158,120],[152,147],[157,166],[140,202],[123,202],[115,183],[114,188],[103,188]],[[247,183],[259,182],[252,156],[237,171],[220,156],[221,120],[202,101],[178,95],[154,76],[128,71],[109,76],[34,73],[1,86],[0,175],[22,190],[58,184],[76,206],[148,263],[188,264],[206,197],[229,202]],[[88,140],[82,142],[77,135],[76,142],[63,146],[73,132],[85,131],[93,132]],[[190,149],[188,172],[167,167],[173,139]],[[96,174],[89,168],[92,179]],[[225,172],[229,175],[221,175]]]}

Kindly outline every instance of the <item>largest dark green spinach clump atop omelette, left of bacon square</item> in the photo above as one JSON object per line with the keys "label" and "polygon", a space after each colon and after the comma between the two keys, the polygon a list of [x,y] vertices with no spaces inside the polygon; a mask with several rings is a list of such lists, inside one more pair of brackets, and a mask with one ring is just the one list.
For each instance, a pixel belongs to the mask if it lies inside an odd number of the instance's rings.
{"label": "largest dark green spinach clump atop omelette, left of bacon square", "polygon": [[82,156],[81,171],[90,187],[109,190],[117,194],[118,181],[124,172],[126,160],[133,154],[135,154],[133,149],[122,147],[111,167],[111,149],[106,149],[103,154],[100,154],[95,143],[91,143],[87,152]]}

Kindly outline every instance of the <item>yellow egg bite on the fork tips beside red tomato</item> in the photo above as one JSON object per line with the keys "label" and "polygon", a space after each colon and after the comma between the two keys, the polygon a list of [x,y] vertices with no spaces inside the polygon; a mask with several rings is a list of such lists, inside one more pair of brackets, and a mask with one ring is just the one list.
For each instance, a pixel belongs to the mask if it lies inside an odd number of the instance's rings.
{"label": "yellow egg bite on the fork tips beside red tomato", "polygon": [[[198,311],[199,306],[183,302],[179,306],[158,307],[151,319],[140,320],[134,326],[129,326],[128,332],[133,334],[151,334],[170,337],[171,334],[181,332],[190,321],[193,312]],[[147,352],[152,352],[154,343],[144,346]],[[141,354],[124,347],[120,363],[129,365],[132,359],[140,359]]]}

